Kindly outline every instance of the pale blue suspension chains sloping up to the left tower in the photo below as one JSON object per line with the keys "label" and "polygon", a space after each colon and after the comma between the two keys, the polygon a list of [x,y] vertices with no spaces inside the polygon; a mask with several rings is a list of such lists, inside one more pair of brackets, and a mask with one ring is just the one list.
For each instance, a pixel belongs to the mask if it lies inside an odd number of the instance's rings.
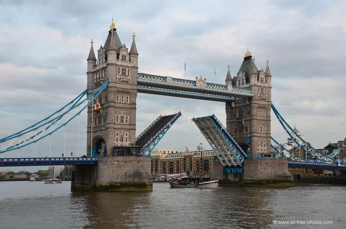
{"label": "pale blue suspension chains sloping up to the left tower", "polygon": [[[26,128],[26,131],[20,131],[17,134],[8,136],[6,138],[3,138],[2,140],[0,140],[0,143],[2,143],[2,148],[0,148],[0,153],[5,153],[11,150],[15,150],[15,149],[20,149],[24,146],[36,143],[37,141],[47,137],[48,135],[53,134],[55,131],[57,131],[58,129],[62,128],[63,126],[65,126],[67,123],[69,123],[72,119],[74,119],[76,116],[78,116],[86,107],[88,107],[99,95],[100,93],[108,86],[108,80],[102,85],[100,86],[97,90],[95,90],[92,94],[90,94],[86,99],[83,99],[81,102],[79,102],[81,100],[81,95],[85,95],[85,91],[80,94],[79,97],[76,97],[76,99],[73,100],[74,104],[72,107],[70,107],[69,109],[67,109],[66,111],[64,111],[62,114],[59,114],[58,116],[52,118],[51,120],[48,120],[44,123],[38,122],[38,123],[42,123],[39,124],[37,126],[31,126],[32,128]],[[81,109],[79,109],[78,112],[72,113],[74,115],[72,115],[71,118],[61,122],[60,120],[69,112],[72,112],[75,108],[78,108],[79,106],[81,106],[83,103],[86,103],[86,105],[84,107],[82,107]],[[71,104],[71,103],[70,103]],[[65,106],[66,107],[66,106]],[[63,109],[63,108],[62,108]],[[60,110],[62,110],[60,109]],[[54,114],[57,114],[57,112],[55,112]],[[52,114],[49,117],[53,117]],[[60,126],[58,126],[59,124],[61,124]],[[56,125],[56,127],[54,128],[54,130],[52,130],[52,125]],[[40,129],[41,128],[41,129]],[[48,129],[51,130],[48,130]],[[30,130],[28,130],[30,129]],[[38,132],[34,131],[38,130]],[[46,134],[45,134],[46,133]],[[29,136],[25,136],[26,134],[29,134]],[[41,136],[43,135],[43,136]],[[36,138],[37,136],[39,136],[38,138]],[[20,138],[23,138],[23,140],[21,140]],[[17,141],[17,139],[19,139]],[[10,141],[12,140],[12,141]],[[18,142],[18,143],[17,143]],[[6,145],[4,145],[6,143]]]}

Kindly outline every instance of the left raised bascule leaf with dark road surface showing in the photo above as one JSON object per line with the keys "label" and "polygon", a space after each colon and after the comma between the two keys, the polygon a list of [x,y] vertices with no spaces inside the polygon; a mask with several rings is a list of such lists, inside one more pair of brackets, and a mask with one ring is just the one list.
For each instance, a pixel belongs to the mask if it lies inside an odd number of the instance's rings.
{"label": "left raised bascule leaf with dark road surface showing", "polygon": [[137,138],[136,146],[142,146],[143,156],[150,157],[152,150],[157,143],[171,128],[173,123],[181,116],[179,111],[176,114],[159,116],[150,126],[148,126]]}

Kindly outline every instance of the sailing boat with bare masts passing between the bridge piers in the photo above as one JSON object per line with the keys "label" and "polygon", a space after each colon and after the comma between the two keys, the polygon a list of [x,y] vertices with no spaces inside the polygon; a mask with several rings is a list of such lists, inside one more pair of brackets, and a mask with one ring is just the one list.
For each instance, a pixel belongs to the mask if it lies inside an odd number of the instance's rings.
{"label": "sailing boat with bare masts passing between the bridge piers", "polygon": [[[210,180],[210,181],[203,181],[203,147],[202,147],[202,143],[200,144],[201,146],[199,147],[201,149],[201,175],[198,173],[199,176],[199,181],[190,181],[189,177],[186,176],[186,174],[179,174],[176,176],[176,178],[172,178],[169,180],[169,183],[171,185],[171,187],[183,187],[183,188],[199,188],[199,189],[212,189],[212,188],[217,188],[219,186],[219,180]],[[198,172],[197,167],[195,166],[194,162],[193,162],[193,158],[190,155],[191,150],[188,149],[186,147],[186,152],[188,152],[191,161],[193,163],[193,166],[195,167],[195,170]]]}

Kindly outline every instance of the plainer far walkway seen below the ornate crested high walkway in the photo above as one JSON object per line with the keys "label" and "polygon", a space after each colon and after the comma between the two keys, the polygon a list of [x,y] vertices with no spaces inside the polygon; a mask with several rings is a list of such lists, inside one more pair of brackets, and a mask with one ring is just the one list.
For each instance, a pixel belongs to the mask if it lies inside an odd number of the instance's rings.
{"label": "plainer far walkway seen below the ornate crested high walkway", "polygon": [[191,98],[191,99],[212,100],[212,101],[219,101],[219,102],[235,101],[234,97],[230,97],[226,95],[216,95],[216,94],[208,94],[208,93],[202,93],[202,92],[157,88],[152,86],[138,85],[137,90],[139,93],[161,94],[161,95]]}

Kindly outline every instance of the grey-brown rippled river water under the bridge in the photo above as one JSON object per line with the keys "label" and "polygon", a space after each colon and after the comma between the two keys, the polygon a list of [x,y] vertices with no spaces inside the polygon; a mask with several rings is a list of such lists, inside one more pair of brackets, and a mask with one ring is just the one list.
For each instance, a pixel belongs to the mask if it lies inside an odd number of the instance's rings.
{"label": "grey-brown rippled river water under the bridge", "polygon": [[[345,228],[346,224],[346,186],[174,189],[168,183],[154,183],[151,192],[71,192],[70,185],[0,182],[0,228]],[[279,225],[293,220],[333,225]]]}

